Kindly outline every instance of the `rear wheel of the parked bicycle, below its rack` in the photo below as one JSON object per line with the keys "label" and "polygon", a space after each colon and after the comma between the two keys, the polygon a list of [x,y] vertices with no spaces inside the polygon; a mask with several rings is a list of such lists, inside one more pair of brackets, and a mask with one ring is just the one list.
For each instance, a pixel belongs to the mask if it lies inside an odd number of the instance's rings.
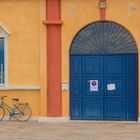
{"label": "rear wheel of the parked bicycle, below its rack", "polygon": [[19,104],[14,112],[14,116],[18,121],[28,121],[32,116],[32,110],[28,104]]}

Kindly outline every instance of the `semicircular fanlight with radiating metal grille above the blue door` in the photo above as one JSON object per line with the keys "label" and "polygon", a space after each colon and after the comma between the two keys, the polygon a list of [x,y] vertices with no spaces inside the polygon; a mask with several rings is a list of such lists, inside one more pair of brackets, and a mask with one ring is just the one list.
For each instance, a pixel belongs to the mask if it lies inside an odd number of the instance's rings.
{"label": "semicircular fanlight with radiating metal grille above the blue door", "polygon": [[83,28],[74,38],[71,54],[137,53],[133,36],[119,24],[96,22]]}

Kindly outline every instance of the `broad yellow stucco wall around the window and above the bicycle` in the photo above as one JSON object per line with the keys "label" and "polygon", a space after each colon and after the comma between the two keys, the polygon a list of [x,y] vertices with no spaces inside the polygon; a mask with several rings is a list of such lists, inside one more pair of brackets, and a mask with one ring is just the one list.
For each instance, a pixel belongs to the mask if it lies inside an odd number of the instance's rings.
{"label": "broad yellow stucco wall around the window and above the bicycle", "polygon": [[[0,0],[0,22],[9,30],[8,86],[40,86],[41,0]],[[41,26],[42,25],[42,26]],[[44,64],[43,64],[44,65]],[[40,113],[40,90],[0,90],[0,96],[29,102]]]}

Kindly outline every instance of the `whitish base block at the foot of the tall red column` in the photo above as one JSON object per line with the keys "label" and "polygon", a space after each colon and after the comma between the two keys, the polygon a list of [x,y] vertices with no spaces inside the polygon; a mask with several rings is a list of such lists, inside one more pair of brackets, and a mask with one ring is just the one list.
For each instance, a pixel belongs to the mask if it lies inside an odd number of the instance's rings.
{"label": "whitish base block at the foot of the tall red column", "polygon": [[69,122],[69,117],[39,117],[39,122]]}

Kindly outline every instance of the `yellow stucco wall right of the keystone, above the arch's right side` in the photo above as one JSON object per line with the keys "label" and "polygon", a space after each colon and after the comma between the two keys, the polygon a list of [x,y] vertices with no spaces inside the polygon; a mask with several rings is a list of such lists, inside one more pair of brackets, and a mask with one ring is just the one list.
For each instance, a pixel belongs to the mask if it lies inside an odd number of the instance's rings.
{"label": "yellow stucco wall right of the keystone, above the arch's right side", "polygon": [[[126,27],[132,33],[136,40],[138,51],[140,51],[140,1],[125,0],[115,1],[108,0],[107,19],[116,21]],[[139,56],[140,61],[140,56]],[[140,72],[140,65],[139,65]],[[140,80],[140,75],[139,75]],[[140,82],[138,87],[140,87]],[[138,88],[140,93],[140,88]],[[139,96],[140,101],[140,96]],[[139,117],[140,117],[140,102],[139,102]]]}

